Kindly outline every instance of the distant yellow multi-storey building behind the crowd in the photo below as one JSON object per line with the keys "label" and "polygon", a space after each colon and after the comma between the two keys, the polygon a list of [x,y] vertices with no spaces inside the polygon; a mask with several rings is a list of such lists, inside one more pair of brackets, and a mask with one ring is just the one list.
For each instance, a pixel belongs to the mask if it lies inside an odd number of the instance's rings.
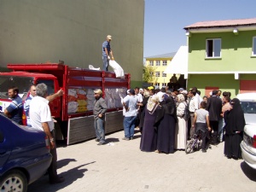
{"label": "distant yellow multi-storey building behind the crowd", "polygon": [[172,58],[175,54],[176,52],[172,52],[172,53],[167,53],[162,55],[145,57],[146,59],[145,66],[152,66],[155,68],[154,82],[148,82],[148,83],[152,83],[155,86],[155,88],[166,87],[166,85],[169,83],[170,79],[172,78],[172,74],[165,73],[166,67],[171,63]]}

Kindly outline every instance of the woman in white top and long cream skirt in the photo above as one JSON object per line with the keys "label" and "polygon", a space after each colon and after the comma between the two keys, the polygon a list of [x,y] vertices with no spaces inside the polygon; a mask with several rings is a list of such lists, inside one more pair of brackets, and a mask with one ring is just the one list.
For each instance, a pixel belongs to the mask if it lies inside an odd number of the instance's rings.
{"label": "woman in white top and long cream skirt", "polygon": [[185,149],[188,136],[188,121],[183,119],[185,108],[188,103],[183,94],[177,95],[177,124],[175,131],[175,148]]}

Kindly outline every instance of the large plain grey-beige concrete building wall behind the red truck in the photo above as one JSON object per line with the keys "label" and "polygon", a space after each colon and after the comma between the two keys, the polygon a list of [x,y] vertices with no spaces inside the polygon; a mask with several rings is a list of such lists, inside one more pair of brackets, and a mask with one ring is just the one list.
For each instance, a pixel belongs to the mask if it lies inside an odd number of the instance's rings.
{"label": "large plain grey-beige concrete building wall behind the red truck", "polygon": [[0,26],[0,71],[8,63],[59,60],[102,68],[110,34],[131,86],[142,82],[144,0],[1,0]]}

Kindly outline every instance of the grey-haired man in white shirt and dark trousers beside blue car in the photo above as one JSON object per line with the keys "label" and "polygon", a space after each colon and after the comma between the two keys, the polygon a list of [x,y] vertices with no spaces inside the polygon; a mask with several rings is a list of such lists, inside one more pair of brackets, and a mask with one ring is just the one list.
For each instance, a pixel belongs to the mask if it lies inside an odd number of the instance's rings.
{"label": "grey-haired man in white shirt and dark trousers beside blue car", "polygon": [[49,101],[46,99],[48,96],[47,85],[38,84],[36,86],[37,96],[32,98],[30,102],[30,120],[33,128],[44,131],[45,135],[49,138],[50,154],[52,161],[48,168],[49,183],[62,183],[64,177],[57,175],[57,152],[55,146],[55,124],[49,111]]}

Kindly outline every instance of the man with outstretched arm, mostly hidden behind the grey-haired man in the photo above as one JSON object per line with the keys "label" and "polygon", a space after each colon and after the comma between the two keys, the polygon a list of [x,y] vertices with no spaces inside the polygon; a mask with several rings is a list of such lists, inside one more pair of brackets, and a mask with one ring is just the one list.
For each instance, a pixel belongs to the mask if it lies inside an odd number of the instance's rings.
{"label": "man with outstretched arm, mostly hidden behind the grey-haired man", "polygon": [[[31,85],[29,92],[30,92],[30,95],[26,98],[26,101],[24,102],[24,111],[26,113],[26,125],[27,126],[31,126],[30,117],[29,117],[29,108],[30,108],[30,102],[32,101],[32,98],[34,96],[37,96],[36,84]],[[58,90],[58,92],[56,92],[55,94],[47,96],[46,99],[49,102],[52,102],[58,96],[63,96],[63,90]]]}

